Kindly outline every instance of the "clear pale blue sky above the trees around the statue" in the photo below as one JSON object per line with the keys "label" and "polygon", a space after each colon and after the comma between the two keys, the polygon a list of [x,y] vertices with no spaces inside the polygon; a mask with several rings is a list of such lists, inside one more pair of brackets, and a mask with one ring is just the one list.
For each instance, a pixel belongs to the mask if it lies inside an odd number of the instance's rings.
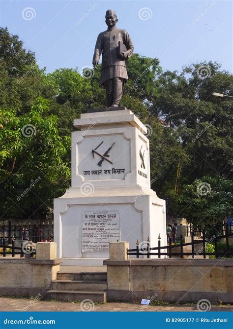
{"label": "clear pale blue sky above the trees around the statue", "polygon": [[105,12],[117,12],[140,55],[159,58],[164,70],[217,61],[232,72],[232,2],[225,0],[0,0],[0,26],[35,52],[47,73],[92,67]]}

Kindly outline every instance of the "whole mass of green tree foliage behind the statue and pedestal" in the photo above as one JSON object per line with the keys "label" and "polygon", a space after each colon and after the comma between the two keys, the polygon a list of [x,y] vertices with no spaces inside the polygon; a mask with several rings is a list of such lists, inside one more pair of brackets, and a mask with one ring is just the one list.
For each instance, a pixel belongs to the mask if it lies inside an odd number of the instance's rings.
{"label": "whole mass of green tree foliage behind the statue and pedestal", "polygon": [[[7,29],[0,28],[0,45],[2,216],[44,216],[69,185],[73,119],[88,108],[105,107],[101,65],[89,69],[89,77],[78,68],[46,74]],[[168,201],[170,216],[209,228],[214,221],[220,230],[225,215],[232,214],[233,111],[232,102],[212,93],[232,95],[232,75],[214,62],[190,65],[181,73],[163,71],[157,58],[137,53],[126,65],[129,80],[121,105],[148,128],[151,187]],[[25,137],[22,128],[29,124],[35,134]],[[24,201],[17,201],[38,176]],[[197,193],[203,182],[210,184],[209,194]]]}

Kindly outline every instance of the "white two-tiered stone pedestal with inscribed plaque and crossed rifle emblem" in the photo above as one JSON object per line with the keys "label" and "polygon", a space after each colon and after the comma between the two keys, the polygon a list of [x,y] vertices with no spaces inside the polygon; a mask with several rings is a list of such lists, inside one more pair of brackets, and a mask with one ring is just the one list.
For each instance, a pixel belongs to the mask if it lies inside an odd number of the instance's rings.
{"label": "white two-tiered stone pedestal with inscribed plaque and crossed rifle emblem", "polygon": [[[81,114],[72,133],[72,187],[54,200],[64,265],[102,265],[109,242],[166,244],[165,200],[150,189],[146,127],[130,110]],[[141,247],[144,246],[142,243]]]}

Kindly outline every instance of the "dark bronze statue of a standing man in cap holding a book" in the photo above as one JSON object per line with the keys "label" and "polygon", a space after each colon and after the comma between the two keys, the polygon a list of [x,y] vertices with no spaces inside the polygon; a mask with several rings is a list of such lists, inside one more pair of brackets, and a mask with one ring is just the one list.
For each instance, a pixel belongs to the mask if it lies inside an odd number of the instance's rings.
{"label": "dark bronze statue of a standing man in cap holding a book", "polygon": [[118,107],[124,83],[128,79],[125,60],[132,56],[134,46],[129,34],[117,29],[118,19],[114,10],[107,10],[105,22],[108,29],[97,38],[93,66],[97,68],[102,53],[100,84],[106,89],[107,107]]}

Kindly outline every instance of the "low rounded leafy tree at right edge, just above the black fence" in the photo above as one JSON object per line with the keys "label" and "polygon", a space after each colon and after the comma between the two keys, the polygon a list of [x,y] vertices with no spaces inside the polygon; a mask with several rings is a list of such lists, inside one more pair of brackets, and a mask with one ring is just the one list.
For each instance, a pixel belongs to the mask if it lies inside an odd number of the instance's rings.
{"label": "low rounded leafy tree at right edge, just above the black fence", "polygon": [[233,182],[223,177],[204,176],[182,186],[178,196],[180,216],[195,227],[213,231],[223,228],[223,219],[233,215]]}

